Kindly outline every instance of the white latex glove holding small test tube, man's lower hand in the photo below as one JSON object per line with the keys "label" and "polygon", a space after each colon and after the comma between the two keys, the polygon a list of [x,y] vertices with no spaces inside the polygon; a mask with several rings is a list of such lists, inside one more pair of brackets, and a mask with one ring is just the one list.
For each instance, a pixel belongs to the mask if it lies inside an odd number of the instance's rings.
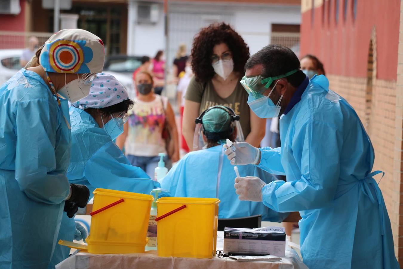
{"label": "white latex glove holding small test tube, man's lower hand", "polygon": [[262,202],[262,188],[265,185],[259,177],[236,177],[234,187],[239,200]]}

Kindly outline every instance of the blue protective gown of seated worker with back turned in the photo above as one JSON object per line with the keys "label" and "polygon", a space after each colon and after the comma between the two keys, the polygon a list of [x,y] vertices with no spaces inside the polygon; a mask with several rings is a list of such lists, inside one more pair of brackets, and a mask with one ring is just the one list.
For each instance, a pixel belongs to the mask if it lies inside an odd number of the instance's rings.
{"label": "blue protective gown of seated worker with back turned", "polygon": [[[223,154],[221,145],[189,152],[160,180],[161,187],[176,197],[219,198],[220,219],[262,215],[264,221],[283,221],[288,213],[268,209],[262,202],[238,199],[234,188],[237,177],[234,166],[227,158],[223,158]],[[275,179],[273,175],[253,165],[239,165],[238,170],[243,177],[260,177],[266,183]]]}

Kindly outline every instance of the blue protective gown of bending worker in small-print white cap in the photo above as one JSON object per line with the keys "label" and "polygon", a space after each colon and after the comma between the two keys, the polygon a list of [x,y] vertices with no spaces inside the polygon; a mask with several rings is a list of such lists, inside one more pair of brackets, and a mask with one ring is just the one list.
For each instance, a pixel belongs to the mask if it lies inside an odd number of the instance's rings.
{"label": "blue protective gown of bending worker in small-print white cap", "polygon": [[[71,160],[67,170],[70,183],[88,187],[90,196],[96,188],[150,194],[159,188],[157,181],[139,167],[129,163],[123,152],[91,115],[80,108],[70,106]],[[63,214],[58,240],[73,241],[74,219]],[[69,257],[70,248],[58,245],[50,268]]]}

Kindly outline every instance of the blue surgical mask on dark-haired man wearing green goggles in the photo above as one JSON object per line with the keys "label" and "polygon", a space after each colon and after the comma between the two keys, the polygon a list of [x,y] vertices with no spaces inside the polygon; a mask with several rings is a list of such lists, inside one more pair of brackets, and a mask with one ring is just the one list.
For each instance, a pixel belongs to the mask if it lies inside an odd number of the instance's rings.
{"label": "blue surgical mask on dark-haired man wearing green goggles", "polygon": [[[280,80],[281,79],[279,79],[278,81]],[[256,98],[253,95],[249,95],[248,105],[259,118],[262,119],[275,118],[278,117],[278,115],[280,115],[280,109],[281,109],[280,102],[281,99],[283,99],[283,94],[281,95],[276,105],[274,105],[273,101],[269,98],[274,88],[276,88],[278,81],[276,82],[276,84],[274,84],[274,87],[272,88],[268,96],[260,94],[261,97]]]}

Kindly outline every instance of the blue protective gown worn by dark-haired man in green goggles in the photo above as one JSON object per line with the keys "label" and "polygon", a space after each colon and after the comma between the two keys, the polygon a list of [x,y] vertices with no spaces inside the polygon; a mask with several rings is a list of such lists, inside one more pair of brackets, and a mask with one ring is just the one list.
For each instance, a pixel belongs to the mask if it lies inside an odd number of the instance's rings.
{"label": "blue protective gown worn by dark-haired man in green goggles", "polygon": [[281,148],[262,148],[258,167],[286,175],[263,190],[279,212],[299,211],[301,254],[310,269],[399,268],[374,149],[354,109],[314,77],[280,118]]}

